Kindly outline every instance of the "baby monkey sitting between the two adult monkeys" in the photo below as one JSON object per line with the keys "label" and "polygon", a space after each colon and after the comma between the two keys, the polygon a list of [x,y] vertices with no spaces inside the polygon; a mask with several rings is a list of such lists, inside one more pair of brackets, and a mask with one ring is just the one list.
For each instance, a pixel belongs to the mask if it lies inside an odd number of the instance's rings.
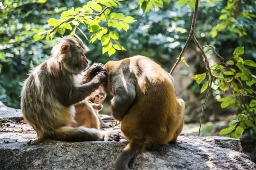
{"label": "baby monkey sitting between the two adult monkeys", "polygon": [[105,98],[106,92],[104,92],[103,88],[100,86],[85,100],[76,104],[76,124],[74,126],[84,126],[96,129],[110,127],[110,123],[104,123],[99,116],[99,111],[103,108],[101,103]]}

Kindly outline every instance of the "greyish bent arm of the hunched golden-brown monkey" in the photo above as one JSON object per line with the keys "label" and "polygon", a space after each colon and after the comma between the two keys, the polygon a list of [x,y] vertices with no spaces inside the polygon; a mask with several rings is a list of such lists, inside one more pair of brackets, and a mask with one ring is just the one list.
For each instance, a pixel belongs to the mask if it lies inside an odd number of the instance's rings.
{"label": "greyish bent arm of the hunched golden-brown monkey", "polygon": [[111,100],[112,115],[119,121],[122,121],[124,114],[133,103],[136,91],[135,86],[129,78],[124,78],[123,74],[112,78],[112,87],[114,97]]}

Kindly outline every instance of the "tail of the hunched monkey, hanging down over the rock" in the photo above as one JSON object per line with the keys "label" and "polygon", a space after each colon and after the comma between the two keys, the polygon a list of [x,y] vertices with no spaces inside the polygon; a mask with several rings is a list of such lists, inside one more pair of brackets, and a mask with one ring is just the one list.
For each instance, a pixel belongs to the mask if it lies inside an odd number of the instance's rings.
{"label": "tail of the hunched monkey, hanging down over the rock", "polygon": [[129,142],[124,150],[118,155],[115,163],[116,170],[129,170],[129,163],[142,149],[139,147],[132,147]]}

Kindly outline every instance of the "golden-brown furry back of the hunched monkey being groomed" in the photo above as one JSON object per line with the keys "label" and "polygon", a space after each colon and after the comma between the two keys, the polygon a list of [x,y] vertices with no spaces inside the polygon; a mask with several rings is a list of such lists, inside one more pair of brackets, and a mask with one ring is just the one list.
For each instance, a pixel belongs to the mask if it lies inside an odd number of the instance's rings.
{"label": "golden-brown furry back of the hunched monkey being groomed", "polygon": [[136,77],[136,98],[130,106],[121,130],[129,140],[140,141],[143,150],[154,149],[173,139],[182,120],[179,103],[168,73],[144,56],[134,56],[130,70]]}

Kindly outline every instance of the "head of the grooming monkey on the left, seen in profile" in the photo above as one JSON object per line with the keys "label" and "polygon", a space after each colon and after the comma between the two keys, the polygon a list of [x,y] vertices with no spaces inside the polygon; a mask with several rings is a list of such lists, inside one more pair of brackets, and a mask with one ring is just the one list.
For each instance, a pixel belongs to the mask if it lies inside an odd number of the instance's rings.
{"label": "head of the grooming monkey on the left, seen in profile", "polygon": [[86,52],[89,48],[74,37],[63,37],[53,47],[52,55],[57,57],[58,62],[69,72],[78,74],[88,66]]}

